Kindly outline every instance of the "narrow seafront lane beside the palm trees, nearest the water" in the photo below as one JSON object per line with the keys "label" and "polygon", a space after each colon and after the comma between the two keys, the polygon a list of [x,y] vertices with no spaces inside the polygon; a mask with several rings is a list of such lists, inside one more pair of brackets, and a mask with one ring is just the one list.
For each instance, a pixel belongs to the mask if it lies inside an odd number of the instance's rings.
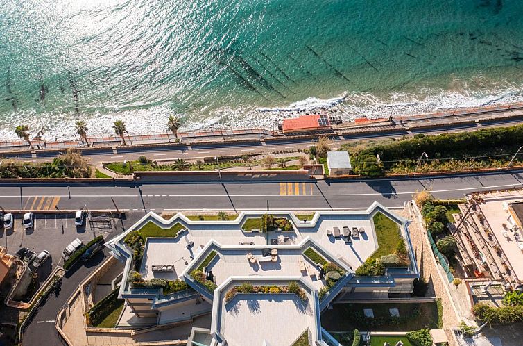
{"label": "narrow seafront lane beside the palm trees, nearest the water", "polygon": [[[329,135],[333,149],[337,149],[344,143],[353,142],[354,140],[368,140],[368,139],[385,139],[385,138],[402,138],[405,135],[415,135],[418,133],[424,134],[439,134],[475,131],[477,129],[485,129],[488,127],[498,126],[513,126],[516,124],[523,124],[521,119],[511,120],[486,120],[477,124],[445,124],[431,129],[422,129],[412,131],[381,131],[380,133],[359,133],[353,135]],[[147,156],[151,160],[175,160],[182,158],[200,159],[214,156],[242,156],[252,154],[270,154],[275,151],[297,151],[298,149],[307,149],[314,145],[311,139],[302,138],[281,138],[278,140],[251,140],[241,143],[212,143],[205,144],[203,142],[193,143],[188,146],[174,146],[174,145],[160,145],[156,147],[119,147],[118,149],[100,148],[95,150],[85,151],[83,155],[89,159],[92,164],[103,162],[121,162],[123,160],[131,161],[137,160],[139,156]],[[9,158],[18,158],[19,160],[27,162],[45,162],[51,161],[56,156],[56,152],[36,152],[36,157],[32,157],[31,153],[3,155]]]}

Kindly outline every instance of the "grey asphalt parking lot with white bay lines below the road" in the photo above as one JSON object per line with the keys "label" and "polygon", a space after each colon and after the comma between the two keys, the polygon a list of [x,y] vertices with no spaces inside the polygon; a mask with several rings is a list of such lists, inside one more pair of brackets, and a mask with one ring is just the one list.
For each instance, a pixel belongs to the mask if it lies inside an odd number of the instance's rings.
{"label": "grey asphalt parking lot with white bay lines below the road", "polygon": [[[137,215],[137,217],[142,215]],[[62,251],[74,239],[78,238],[84,244],[98,235],[103,235],[105,239],[109,239],[123,231],[124,224],[132,224],[130,222],[137,219],[132,215],[128,215],[124,220],[111,217],[111,215],[97,215],[92,218],[95,221],[89,222],[86,217],[84,225],[77,227],[74,224],[74,214],[72,213],[35,213],[33,228],[24,229],[22,214],[14,216],[15,222],[12,229],[0,228],[0,244],[6,247],[10,254],[15,254],[22,247],[27,247],[35,254],[40,254],[42,250],[49,251],[51,257],[35,271],[40,283],[43,283],[49,277],[49,274],[57,265],[63,265]],[[103,256],[103,254],[100,252],[98,256]],[[85,265],[89,265],[89,263]],[[33,269],[33,267],[30,267],[30,269]]]}

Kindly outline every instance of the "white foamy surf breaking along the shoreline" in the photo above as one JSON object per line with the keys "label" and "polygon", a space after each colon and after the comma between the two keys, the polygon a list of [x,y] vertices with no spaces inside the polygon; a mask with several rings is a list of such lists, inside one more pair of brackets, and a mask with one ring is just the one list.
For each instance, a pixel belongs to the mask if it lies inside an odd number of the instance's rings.
{"label": "white foamy surf breaking along the shoreline", "polygon": [[[391,92],[377,96],[368,92],[344,93],[331,99],[309,97],[287,107],[257,108],[256,106],[223,106],[207,114],[197,111],[179,115],[182,119],[180,132],[220,129],[264,128],[275,130],[277,124],[287,117],[302,114],[327,113],[340,116],[344,121],[356,118],[379,119],[400,115],[434,113],[456,108],[492,106],[523,102],[523,87],[496,88],[496,90],[422,90],[418,94]],[[109,113],[85,113],[56,110],[52,113],[17,112],[3,116],[0,138],[16,139],[18,124],[28,124],[32,133],[44,129],[48,140],[71,140],[76,137],[74,123],[85,120],[89,136],[113,135],[112,122],[123,120],[130,134],[166,133],[166,119],[172,110],[169,106],[155,106],[138,110],[114,110]]]}

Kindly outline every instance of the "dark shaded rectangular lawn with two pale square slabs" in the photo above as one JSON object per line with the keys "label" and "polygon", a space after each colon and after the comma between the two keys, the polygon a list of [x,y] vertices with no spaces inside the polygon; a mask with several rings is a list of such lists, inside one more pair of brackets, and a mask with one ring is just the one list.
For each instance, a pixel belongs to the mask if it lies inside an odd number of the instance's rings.
{"label": "dark shaded rectangular lawn with two pale square slabs", "polygon": [[[364,308],[372,308],[374,318],[363,315]],[[397,308],[400,317],[391,318],[389,308]],[[344,303],[334,304],[321,317],[327,331],[413,331],[439,329],[440,316],[436,302],[431,303]],[[381,343],[383,345],[383,343]]]}

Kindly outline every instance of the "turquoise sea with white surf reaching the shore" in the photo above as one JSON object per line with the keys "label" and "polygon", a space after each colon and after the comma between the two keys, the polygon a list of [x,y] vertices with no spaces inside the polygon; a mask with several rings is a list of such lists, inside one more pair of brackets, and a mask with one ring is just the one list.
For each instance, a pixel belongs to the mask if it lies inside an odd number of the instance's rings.
{"label": "turquoise sea with white surf reaching the shore", "polygon": [[347,117],[522,100],[523,1],[0,0],[1,85],[2,138],[248,127],[344,92]]}

